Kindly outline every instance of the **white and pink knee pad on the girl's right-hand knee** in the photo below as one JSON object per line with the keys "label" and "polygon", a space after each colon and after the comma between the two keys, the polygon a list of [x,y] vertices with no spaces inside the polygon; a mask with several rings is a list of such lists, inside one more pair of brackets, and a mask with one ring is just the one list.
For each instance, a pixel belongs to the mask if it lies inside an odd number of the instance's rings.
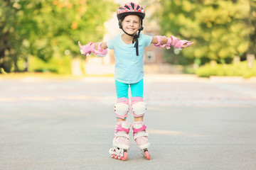
{"label": "white and pink knee pad on the girl's right-hand knee", "polygon": [[143,98],[133,97],[132,98],[132,115],[134,117],[142,117],[146,113],[146,103],[144,103]]}

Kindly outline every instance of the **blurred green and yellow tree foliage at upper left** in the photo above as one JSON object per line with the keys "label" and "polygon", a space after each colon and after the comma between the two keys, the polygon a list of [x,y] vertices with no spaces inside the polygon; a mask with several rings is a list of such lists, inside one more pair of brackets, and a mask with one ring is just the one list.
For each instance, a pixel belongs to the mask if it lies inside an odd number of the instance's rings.
{"label": "blurred green and yellow tree foliage at upper left", "polygon": [[81,56],[78,40],[101,40],[116,8],[111,0],[0,0],[0,68],[19,71],[17,62],[29,55],[46,63]]}

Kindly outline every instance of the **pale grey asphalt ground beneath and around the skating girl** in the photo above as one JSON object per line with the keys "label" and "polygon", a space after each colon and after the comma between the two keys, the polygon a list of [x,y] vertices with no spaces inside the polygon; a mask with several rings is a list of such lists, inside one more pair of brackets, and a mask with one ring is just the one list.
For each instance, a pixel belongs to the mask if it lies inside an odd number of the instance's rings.
{"label": "pale grey asphalt ground beneath and around the skating girl", "polygon": [[144,85],[151,160],[131,140],[122,162],[108,154],[112,77],[0,77],[0,169],[256,169],[255,79],[155,74]]}

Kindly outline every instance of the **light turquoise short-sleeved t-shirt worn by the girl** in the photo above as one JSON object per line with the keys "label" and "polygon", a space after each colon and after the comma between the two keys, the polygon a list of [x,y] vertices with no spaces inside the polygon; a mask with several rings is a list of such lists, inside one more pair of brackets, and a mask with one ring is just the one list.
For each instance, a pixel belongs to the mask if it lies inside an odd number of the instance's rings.
{"label": "light turquoise short-sleeved t-shirt worn by the girl", "polygon": [[122,34],[107,41],[107,47],[114,50],[114,79],[126,84],[134,84],[144,77],[143,56],[144,48],[149,46],[152,37],[139,34],[139,56],[133,44],[127,45],[122,40]]}

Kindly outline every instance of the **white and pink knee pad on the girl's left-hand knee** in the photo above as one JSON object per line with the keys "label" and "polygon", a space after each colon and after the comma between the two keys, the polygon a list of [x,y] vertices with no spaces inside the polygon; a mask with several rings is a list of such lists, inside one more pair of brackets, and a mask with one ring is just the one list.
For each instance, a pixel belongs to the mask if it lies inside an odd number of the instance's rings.
{"label": "white and pink knee pad on the girl's left-hand knee", "polygon": [[117,103],[114,105],[114,113],[117,118],[126,119],[129,112],[129,99],[118,98]]}

